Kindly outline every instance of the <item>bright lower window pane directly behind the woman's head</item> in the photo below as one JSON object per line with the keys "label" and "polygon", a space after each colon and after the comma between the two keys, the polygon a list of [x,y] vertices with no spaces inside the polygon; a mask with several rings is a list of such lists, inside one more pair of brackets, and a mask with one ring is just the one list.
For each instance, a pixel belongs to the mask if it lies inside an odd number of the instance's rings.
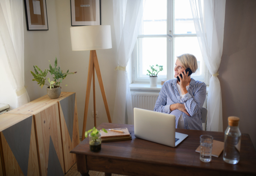
{"label": "bright lower window pane directly behind the woman's head", "polygon": [[[181,54],[193,54],[198,61],[198,69],[192,76],[204,76],[204,61],[202,58],[200,46],[197,37],[175,37],[174,40],[174,65],[177,56]],[[174,72],[174,71],[173,71]]]}

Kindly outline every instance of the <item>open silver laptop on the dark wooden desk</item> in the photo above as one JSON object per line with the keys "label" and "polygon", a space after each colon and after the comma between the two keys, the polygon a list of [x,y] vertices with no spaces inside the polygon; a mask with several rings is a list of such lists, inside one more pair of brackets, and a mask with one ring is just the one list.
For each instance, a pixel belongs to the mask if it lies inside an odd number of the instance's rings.
{"label": "open silver laptop on the dark wooden desk", "polygon": [[134,108],[134,134],[137,138],[177,147],[188,135],[175,132],[175,116]]}

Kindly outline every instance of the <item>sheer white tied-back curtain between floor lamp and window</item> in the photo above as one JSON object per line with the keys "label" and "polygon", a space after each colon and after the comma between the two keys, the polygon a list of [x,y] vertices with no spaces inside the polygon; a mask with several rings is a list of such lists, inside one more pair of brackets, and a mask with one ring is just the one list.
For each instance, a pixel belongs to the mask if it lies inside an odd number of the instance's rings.
{"label": "sheer white tied-back curtain between floor lamp and window", "polygon": [[[113,122],[134,124],[131,92],[126,71],[143,15],[143,0],[113,0],[118,72]],[[127,114],[126,114],[126,113]]]}

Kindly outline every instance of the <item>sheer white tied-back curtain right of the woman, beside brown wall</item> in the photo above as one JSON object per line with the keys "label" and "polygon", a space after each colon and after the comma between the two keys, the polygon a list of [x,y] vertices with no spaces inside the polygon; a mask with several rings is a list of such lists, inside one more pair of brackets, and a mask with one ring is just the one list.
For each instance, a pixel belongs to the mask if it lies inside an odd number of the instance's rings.
{"label": "sheer white tied-back curtain right of the woman, beside brown wall", "polygon": [[223,48],[225,4],[226,0],[190,0],[202,56],[212,74],[207,96],[207,131],[223,131],[221,85],[217,76]]}

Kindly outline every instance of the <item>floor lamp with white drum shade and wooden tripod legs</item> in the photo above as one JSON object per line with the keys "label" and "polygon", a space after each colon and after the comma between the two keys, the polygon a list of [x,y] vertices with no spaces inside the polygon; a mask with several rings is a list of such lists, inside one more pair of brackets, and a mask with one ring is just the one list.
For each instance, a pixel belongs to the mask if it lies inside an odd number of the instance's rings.
{"label": "floor lamp with white drum shade and wooden tripod legs", "polygon": [[90,87],[93,77],[93,110],[94,110],[94,126],[96,127],[96,100],[95,100],[95,74],[94,68],[99,81],[99,87],[102,93],[103,102],[108,116],[108,122],[111,123],[111,116],[108,109],[107,97],[105,94],[102,76],[99,69],[99,62],[96,54],[98,49],[112,48],[111,41],[111,28],[110,25],[100,26],[77,26],[70,28],[71,44],[73,51],[86,51],[90,50],[89,69],[87,76],[87,88],[84,105],[84,123],[82,140],[84,140],[84,133],[86,128],[88,105],[90,98]]}

